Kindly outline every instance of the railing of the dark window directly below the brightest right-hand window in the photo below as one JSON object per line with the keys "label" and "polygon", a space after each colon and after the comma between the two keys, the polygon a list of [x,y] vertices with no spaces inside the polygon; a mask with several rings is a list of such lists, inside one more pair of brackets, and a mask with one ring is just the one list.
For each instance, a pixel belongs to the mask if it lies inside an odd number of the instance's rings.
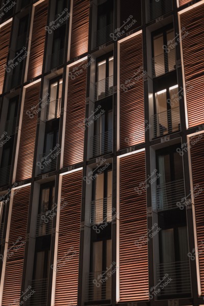
{"label": "railing of the dark window directly below the brightest right-hand window", "polygon": [[177,208],[176,203],[184,197],[184,180],[157,185],[157,211]]}

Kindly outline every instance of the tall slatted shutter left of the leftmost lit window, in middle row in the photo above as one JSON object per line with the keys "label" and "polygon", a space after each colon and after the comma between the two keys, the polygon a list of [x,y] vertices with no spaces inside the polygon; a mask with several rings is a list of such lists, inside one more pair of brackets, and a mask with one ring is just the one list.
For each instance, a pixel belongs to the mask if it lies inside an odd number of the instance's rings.
{"label": "tall slatted shutter left of the leftmost lit window, in middle row", "polygon": [[[36,106],[34,110],[38,110],[39,96],[40,82],[25,89],[20,144],[16,169],[16,182],[30,179],[32,176],[38,114],[33,114],[31,108]],[[31,112],[31,114],[28,112]],[[33,115],[33,118],[30,118],[29,114],[30,116]]]}

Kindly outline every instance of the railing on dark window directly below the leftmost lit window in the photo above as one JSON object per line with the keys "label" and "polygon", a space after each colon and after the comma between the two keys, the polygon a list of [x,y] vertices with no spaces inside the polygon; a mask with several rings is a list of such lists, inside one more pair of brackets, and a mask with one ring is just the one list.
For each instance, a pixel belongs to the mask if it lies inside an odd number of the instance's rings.
{"label": "railing on dark window directly below the leftmost lit window", "polygon": [[58,150],[53,150],[53,151],[49,150],[48,152],[40,154],[37,163],[38,166],[37,174],[40,175],[46,172],[55,171],[58,155],[59,155]]}

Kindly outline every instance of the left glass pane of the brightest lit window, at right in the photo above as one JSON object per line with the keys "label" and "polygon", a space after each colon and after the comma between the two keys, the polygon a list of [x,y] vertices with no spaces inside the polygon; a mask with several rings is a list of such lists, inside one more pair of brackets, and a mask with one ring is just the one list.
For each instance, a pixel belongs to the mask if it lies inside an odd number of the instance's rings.
{"label": "left glass pane of the brightest lit window, at right", "polygon": [[154,120],[154,127],[155,130],[157,129],[157,136],[162,136],[168,132],[166,89],[157,92],[155,97],[157,119],[155,118],[156,120]]}

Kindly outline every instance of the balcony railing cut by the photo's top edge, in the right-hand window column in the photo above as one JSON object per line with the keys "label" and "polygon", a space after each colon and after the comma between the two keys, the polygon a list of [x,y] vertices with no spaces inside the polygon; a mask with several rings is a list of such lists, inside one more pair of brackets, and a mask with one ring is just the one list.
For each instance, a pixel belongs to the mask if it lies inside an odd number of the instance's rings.
{"label": "balcony railing cut by the photo's top edge, in the right-hand window column", "polygon": [[148,0],[147,22],[157,19],[170,11],[172,11],[171,0],[152,1],[152,3]]}

